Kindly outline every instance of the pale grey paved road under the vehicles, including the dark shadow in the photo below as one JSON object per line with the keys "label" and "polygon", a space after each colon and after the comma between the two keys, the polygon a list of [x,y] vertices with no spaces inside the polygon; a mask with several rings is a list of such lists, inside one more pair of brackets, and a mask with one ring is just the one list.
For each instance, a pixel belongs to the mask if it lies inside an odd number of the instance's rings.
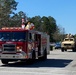
{"label": "pale grey paved road under the vehicles, including the dark shadow", "polygon": [[50,51],[48,59],[33,64],[0,62],[0,75],[76,75],[76,52]]}

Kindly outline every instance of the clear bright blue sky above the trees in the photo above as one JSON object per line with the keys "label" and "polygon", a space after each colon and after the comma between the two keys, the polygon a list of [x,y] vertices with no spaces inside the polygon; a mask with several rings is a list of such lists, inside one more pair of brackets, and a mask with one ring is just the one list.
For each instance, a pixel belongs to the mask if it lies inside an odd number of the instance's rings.
{"label": "clear bright blue sky above the trees", "polygon": [[76,0],[15,0],[16,13],[23,11],[27,17],[51,16],[66,34],[76,34]]}

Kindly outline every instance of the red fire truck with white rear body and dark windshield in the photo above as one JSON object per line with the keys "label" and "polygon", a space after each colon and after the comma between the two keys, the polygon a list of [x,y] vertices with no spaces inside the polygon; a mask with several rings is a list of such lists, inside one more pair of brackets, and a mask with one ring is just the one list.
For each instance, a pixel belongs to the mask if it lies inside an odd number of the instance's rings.
{"label": "red fire truck with white rear body and dark windshield", "polygon": [[30,59],[47,59],[48,35],[21,27],[0,29],[0,59],[3,64]]}

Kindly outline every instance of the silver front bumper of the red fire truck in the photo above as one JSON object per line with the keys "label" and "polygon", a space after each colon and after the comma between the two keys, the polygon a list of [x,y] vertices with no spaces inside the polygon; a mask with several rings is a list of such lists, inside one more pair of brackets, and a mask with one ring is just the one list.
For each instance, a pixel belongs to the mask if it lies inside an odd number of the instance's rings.
{"label": "silver front bumper of the red fire truck", "polygon": [[0,59],[27,59],[23,54],[0,54]]}

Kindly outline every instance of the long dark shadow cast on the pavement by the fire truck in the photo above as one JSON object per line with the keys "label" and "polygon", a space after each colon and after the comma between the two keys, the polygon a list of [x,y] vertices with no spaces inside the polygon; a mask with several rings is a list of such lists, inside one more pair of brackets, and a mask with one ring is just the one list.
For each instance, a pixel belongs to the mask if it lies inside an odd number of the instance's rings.
{"label": "long dark shadow cast on the pavement by the fire truck", "polygon": [[28,64],[26,62],[17,62],[10,63],[8,65],[1,65],[1,67],[21,67],[21,68],[37,68],[37,67],[57,67],[63,68],[70,64],[72,60],[64,60],[64,59],[47,59],[45,61],[36,60],[32,64]]}

